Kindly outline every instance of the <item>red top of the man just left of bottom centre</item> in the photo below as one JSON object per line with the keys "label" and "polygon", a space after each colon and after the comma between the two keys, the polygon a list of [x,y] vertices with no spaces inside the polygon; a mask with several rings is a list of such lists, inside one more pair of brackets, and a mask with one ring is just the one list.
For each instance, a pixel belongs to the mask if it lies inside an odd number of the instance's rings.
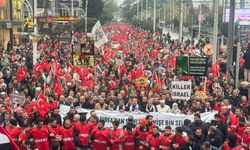
{"label": "red top of the man just left of bottom centre", "polygon": [[124,133],[122,128],[118,128],[116,130],[111,130],[112,140],[114,140],[114,144],[112,144],[112,150],[121,150],[122,142],[124,141]]}

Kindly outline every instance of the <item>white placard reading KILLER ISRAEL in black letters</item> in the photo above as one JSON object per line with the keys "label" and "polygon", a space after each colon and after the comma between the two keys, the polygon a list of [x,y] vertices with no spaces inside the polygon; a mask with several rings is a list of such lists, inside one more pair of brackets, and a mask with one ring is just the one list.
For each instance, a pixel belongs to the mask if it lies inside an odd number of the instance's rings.
{"label": "white placard reading KILLER ISRAEL in black letters", "polygon": [[171,96],[173,99],[190,99],[191,81],[173,81],[171,84]]}

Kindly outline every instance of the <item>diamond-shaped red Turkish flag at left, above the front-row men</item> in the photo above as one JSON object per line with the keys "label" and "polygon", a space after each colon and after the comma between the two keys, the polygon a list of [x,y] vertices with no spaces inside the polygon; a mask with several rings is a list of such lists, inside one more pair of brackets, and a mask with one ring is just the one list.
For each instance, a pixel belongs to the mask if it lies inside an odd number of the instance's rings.
{"label": "diamond-shaped red Turkish flag at left, above the front-row men", "polygon": [[41,92],[36,101],[36,109],[38,113],[44,118],[49,111],[48,102],[46,101],[45,95]]}

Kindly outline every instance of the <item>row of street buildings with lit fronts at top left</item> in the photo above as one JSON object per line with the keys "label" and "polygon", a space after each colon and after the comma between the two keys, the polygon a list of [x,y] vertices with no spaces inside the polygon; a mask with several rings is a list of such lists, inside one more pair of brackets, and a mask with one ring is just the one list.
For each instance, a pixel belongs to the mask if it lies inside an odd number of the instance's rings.
{"label": "row of street buildings with lit fronts at top left", "polygon": [[[39,30],[54,23],[65,23],[83,17],[82,0],[36,0],[37,14],[33,14],[35,0],[0,0],[0,48],[6,48],[13,32],[13,44],[31,35],[27,22],[37,18]],[[72,7],[73,5],[73,7]],[[73,8],[73,9],[72,9]],[[73,13],[72,13],[73,10]],[[26,26],[25,26],[26,25]]]}

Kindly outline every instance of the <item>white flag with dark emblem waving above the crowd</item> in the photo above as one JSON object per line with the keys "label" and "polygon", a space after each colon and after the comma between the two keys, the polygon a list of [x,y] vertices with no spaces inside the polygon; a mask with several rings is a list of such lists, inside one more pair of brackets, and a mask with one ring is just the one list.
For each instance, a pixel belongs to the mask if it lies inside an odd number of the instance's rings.
{"label": "white flag with dark emblem waving above the crowd", "polygon": [[108,42],[108,39],[104,31],[102,30],[102,25],[99,20],[96,22],[95,26],[93,27],[91,31],[91,35],[94,36],[95,38],[95,46],[97,48],[99,48],[100,46]]}

